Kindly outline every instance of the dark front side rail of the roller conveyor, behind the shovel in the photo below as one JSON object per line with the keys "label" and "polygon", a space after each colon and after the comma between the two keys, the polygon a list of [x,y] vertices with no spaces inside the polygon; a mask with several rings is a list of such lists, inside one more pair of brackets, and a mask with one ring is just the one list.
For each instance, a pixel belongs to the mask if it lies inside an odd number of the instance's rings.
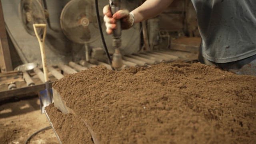
{"label": "dark front side rail of the roller conveyor, behind the shovel", "polygon": [[[50,87],[52,87],[52,82],[50,82],[49,84],[50,84]],[[45,89],[45,84],[38,84],[35,86],[27,86],[24,88],[18,88],[15,90],[2,91],[2,92],[0,92],[0,101],[10,99],[10,98],[13,98],[16,96],[34,94],[34,93],[39,92],[44,89]]]}

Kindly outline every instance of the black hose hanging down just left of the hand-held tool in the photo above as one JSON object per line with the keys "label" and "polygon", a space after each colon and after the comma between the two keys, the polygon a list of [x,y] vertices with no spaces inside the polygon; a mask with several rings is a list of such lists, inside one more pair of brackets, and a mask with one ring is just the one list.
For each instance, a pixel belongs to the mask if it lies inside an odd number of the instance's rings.
{"label": "black hose hanging down just left of the hand-held tool", "polygon": [[103,43],[103,46],[104,46],[104,50],[105,50],[105,52],[106,52],[106,55],[107,55],[107,57],[108,57],[108,64],[110,64],[112,70],[114,70],[114,68],[112,67],[112,62],[111,62],[111,58],[110,58],[110,55],[109,55],[109,52],[108,52],[108,48],[107,48],[107,45],[106,45],[106,42],[105,42],[105,38],[104,38],[104,36],[103,36],[103,31],[102,31],[101,22],[100,22],[100,14],[99,14],[98,0],[95,0],[95,8],[96,8],[98,26],[99,26],[99,29],[100,29],[101,40],[102,40],[102,43]]}

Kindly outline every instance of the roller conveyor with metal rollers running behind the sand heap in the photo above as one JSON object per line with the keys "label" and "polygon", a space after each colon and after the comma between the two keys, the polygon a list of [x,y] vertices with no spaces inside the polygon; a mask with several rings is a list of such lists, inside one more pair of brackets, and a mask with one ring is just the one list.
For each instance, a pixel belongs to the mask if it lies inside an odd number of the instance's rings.
{"label": "roller conveyor with metal rollers running behind the sand heap", "polygon": [[[175,60],[183,60],[185,62],[197,60],[197,54],[178,51],[178,50],[158,50],[152,52],[142,52],[123,56],[123,67],[139,67],[146,66],[151,67],[154,64],[160,62],[172,62]],[[92,62],[86,62],[80,60],[79,62],[69,62],[68,64],[57,64],[57,66],[48,66],[48,72],[52,82],[63,78],[66,74],[74,74],[82,70],[88,70],[98,65],[104,65],[111,70],[111,66],[106,62],[100,62],[92,60]],[[17,76],[16,76],[17,77]],[[23,81],[23,85],[19,86],[16,83]],[[40,68],[34,68],[32,72],[23,72],[20,78],[12,78],[9,81],[0,79],[0,86],[7,85],[6,89],[0,91],[0,100],[8,99],[17,95],[28,95],[29,93],[35,94],[40,90],[45,89],[44,85],[44,73]],[[10,90],[8,90],[8,86]]]}

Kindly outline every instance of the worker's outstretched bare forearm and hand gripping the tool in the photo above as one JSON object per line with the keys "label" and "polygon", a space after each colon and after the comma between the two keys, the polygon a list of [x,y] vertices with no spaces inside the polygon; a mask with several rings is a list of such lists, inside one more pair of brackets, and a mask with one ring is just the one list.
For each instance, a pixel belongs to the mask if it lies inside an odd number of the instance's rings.
{"label": "worker's outstretched bare forearm and hand gripping the tool", "polygon": [[173,0],[146,0],[141,6],[129,13],[128,10],[119,10],[113,16],[110,6],[103,8],[104,22],[106,22],[106,32],[111,34],[116,28],[116,20],[121,19],[122,29],[128,29],[134,23],[153,18],[165,10]]}

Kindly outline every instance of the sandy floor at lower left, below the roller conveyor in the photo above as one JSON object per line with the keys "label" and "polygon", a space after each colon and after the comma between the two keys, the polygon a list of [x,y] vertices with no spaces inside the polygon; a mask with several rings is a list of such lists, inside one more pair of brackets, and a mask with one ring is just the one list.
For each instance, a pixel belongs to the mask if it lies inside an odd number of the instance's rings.
{"label": "sandy floor at lower left, below the roller conveyor", "polygon": [[[37,130],[50,126],[38,98],[0,104],[0,144],[24,144]],[[59,144],[53,130],[32,137],[29,144]]]}

